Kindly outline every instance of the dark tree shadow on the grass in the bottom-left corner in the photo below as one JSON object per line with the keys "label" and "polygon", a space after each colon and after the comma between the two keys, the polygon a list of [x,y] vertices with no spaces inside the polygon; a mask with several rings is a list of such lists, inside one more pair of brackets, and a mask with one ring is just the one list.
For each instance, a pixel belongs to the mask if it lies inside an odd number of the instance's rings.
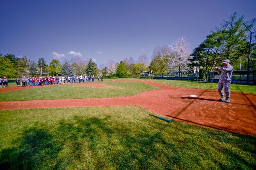
{"label": "dark tree shadow on the grass in the bottom-left corner", "polygon": [[61,149],[47,131],[33,127],[24,131],[18,147],[2,150],[0,169],[34,169],[56,158]]}

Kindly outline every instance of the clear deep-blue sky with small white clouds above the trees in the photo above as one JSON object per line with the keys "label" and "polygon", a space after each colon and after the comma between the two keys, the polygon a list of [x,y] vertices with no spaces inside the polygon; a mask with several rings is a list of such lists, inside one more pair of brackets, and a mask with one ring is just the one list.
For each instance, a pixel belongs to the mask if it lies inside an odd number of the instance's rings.
{"label": "clear deep-blue sky with small white clouds above the trees", "polygon": [[1,0],[0,53],[46,63],[150,58],[184,36],[190,51],[233,12],[256,17],[255,0]]}

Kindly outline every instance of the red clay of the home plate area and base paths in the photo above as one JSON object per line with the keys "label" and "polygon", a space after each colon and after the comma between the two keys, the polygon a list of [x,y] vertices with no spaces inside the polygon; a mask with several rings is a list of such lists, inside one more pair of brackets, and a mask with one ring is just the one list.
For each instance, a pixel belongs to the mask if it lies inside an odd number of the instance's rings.
{"label": "red clay of the home plate area and base paths", "polygon": [[[217,90],[177,88],[157,82],[142,82],[161,89],[141,92],[131,97],[0,102],[0,109],[138,105],[177,121],[256,135],[256,94],[232,92],[230,103],[223,103],[217,101],[220,98]],[[95,86],[100,87],[99,84]],[[3,92],[2,89],[0,92]]]}

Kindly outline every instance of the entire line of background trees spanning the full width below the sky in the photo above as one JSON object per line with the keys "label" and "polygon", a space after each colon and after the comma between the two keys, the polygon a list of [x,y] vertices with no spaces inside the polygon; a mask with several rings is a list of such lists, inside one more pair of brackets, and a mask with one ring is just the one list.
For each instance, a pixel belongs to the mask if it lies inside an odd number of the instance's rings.
{"label": "entire line of background trees spanning the full width below the sky", "polygon": [[[250,66],[256,68],[256,42],[254,18],[246,23],[253,31]],[[230,59],[234,70],[247,70],[248,58],[248,30],[244,27],[244,16],[235,12],[228,20],[224,20],[220,27],[211,31],[210,35],[193,51],[189,50],[189,42],[185,37],[179,37],[173,45],[157,46],[151,55],[141,54],[135,62],[132,57],[125,58],[119,63],[108,60],[106,64],[94,63],[92,59],[73,57],[64,64],[53,59],[49,65],[44,58],[35,63],[27,57],[22,59],[12,54],[0,54],[0,77],[15,77],[22,74],[48,75],[103,75],[109,77],[130,77],[138,74],[182,74],[198,72],[199,78],[206,79],[213,66],[220,66],[223,59]]]}

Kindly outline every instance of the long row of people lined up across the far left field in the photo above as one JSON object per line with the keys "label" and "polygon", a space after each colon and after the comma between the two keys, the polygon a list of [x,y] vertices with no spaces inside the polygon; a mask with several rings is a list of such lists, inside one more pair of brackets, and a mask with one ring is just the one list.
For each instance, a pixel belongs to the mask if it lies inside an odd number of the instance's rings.
{"label": "long row of people lined up across the far left field", "polygon": [[[98,76],[98,81],[103,81],[103,76]],[[20,79],[16,78],[17,87],[20,87]],[[84,75],[84,76],[50,76],[50,77],[22,77],[22,86],[48,86],[53,84],[64,84],[64,83],[80,83],[80,82],[94,82],[94,75]],[[8,79],[4,77],[0,78],[0,88],[2,88],[2,82],[4,87],[8,86]]]}

